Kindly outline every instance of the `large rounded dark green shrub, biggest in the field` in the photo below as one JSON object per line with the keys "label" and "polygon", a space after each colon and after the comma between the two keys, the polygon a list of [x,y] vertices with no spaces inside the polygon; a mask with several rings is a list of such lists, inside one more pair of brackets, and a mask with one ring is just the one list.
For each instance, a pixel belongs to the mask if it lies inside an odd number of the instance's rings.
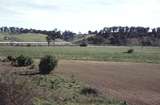
{"label": "large rounded dark green shrub, biggest in the field", "polygon": [[58,60],[56,57],[46,55],[41,58],[39,71],[41,74],[49,74],[57,66]]}

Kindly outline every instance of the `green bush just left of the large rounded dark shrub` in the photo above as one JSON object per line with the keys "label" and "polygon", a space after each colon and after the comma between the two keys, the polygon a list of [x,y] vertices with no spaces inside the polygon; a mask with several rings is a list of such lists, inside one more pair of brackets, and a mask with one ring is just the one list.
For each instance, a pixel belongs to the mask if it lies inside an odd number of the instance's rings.
{"label": "green bush just left of the large rounded dark shrub", "polygon": [[32,58],[24,55],[16,57],[16,66],[29,66],[33,64]]}

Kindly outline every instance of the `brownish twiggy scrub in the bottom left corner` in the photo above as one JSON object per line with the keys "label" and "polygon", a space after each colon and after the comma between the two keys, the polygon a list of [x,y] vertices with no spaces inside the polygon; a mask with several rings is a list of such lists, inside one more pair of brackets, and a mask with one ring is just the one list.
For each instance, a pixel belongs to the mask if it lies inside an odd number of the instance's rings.
{"label": "brownish twiggy scrub in the bottom left corner", "polygon": [[17,82],[16,76],[6,75],[6,73],[0,77],[0,80],[1,105],[33,105],[34,94],[27,81]]}

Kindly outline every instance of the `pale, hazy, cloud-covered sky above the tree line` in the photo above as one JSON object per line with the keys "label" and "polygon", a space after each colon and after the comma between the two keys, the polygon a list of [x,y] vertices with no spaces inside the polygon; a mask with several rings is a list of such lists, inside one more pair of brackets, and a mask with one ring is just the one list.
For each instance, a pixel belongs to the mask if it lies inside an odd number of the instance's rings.
{"label": "pale, hazy, cloud-covered sky above the tree line", "polygon": [[0,0],[0,26],[87,32],[160,26],[160,0]]}

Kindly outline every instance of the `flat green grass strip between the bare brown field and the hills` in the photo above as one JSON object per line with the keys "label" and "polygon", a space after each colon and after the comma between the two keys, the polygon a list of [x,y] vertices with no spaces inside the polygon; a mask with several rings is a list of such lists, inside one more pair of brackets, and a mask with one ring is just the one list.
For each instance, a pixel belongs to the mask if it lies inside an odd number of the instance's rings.
{"label": "flat green grass strip between the bare brown field and the hills", "polygon": [[24,54],[33,58],[44,55],[55,55],[59,59],[93,60],[93,61],[123,61],[160,63],[160,48],[132,47],[132,54],[124,53],[130,47],[0,47],[0,56],[18,56]]}

